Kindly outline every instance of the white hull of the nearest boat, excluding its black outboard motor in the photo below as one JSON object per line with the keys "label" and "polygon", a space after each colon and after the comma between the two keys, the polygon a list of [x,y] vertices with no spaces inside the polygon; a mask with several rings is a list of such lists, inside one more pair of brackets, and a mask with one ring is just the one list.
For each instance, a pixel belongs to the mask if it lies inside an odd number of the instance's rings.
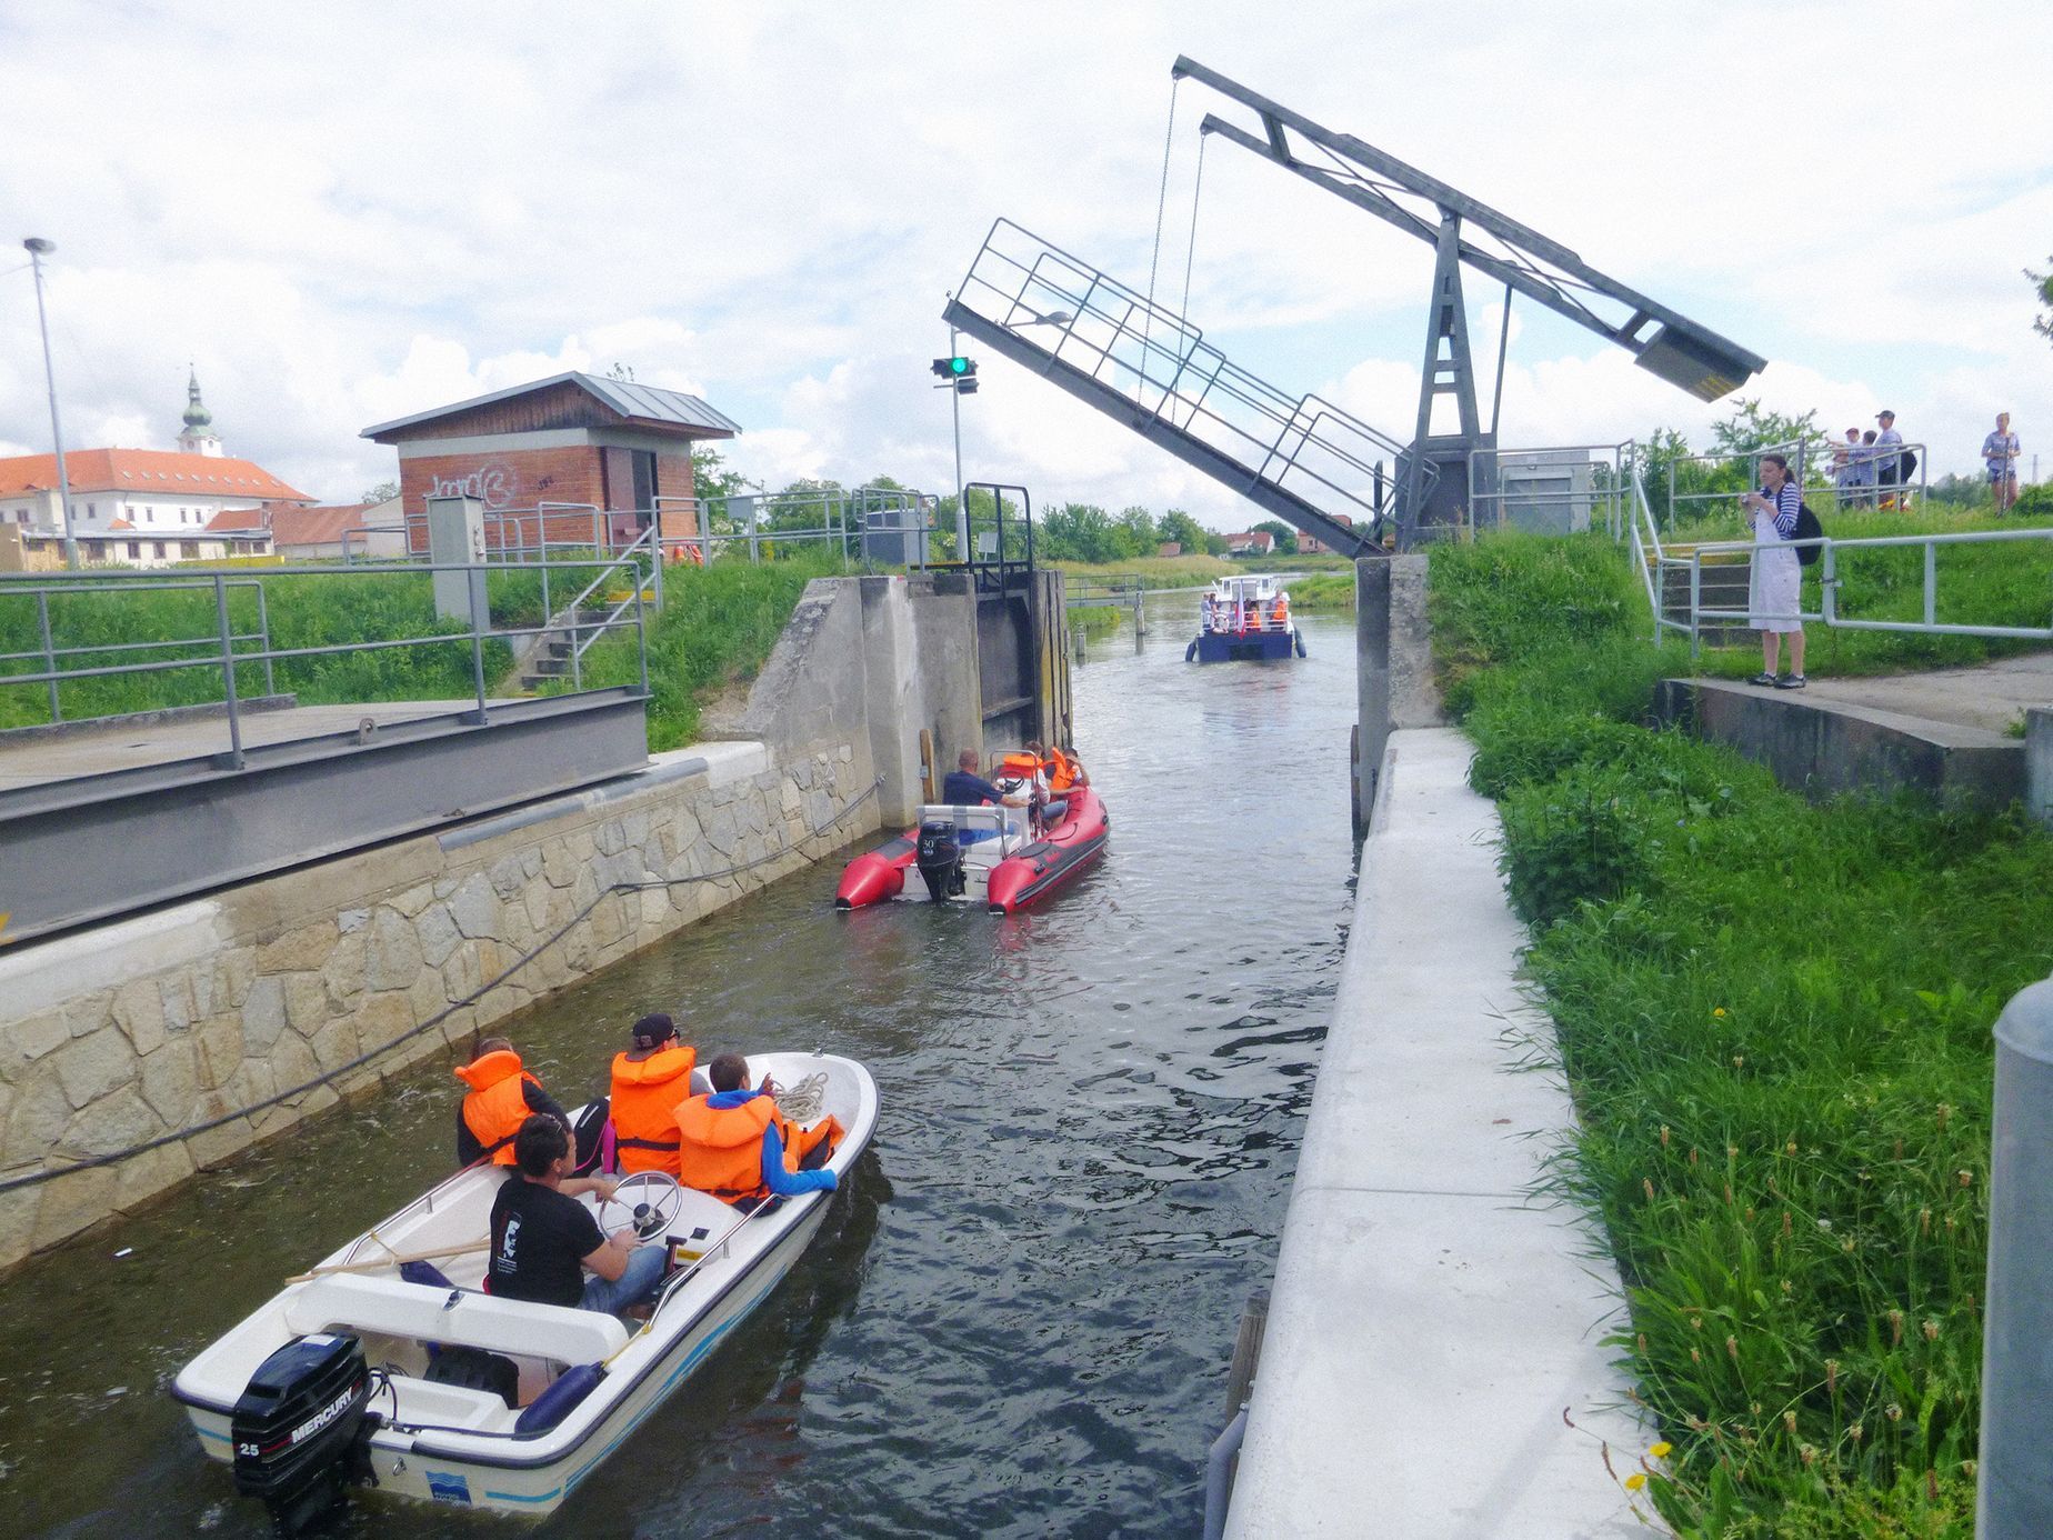
{"label": "white hull of the nearest boat, excluding its black outboard motor", "polygon": [[[817,1070],[829,1072],[829,1094],[823,1111],[840,1117],[846,1131],[827,1164],[842,1175],[842,1181],[848,1181],[877,1123],[877,1088],[868,1072],[852,1060],[811,1053],[751,1055],[749,1070],[751,1078],[760,1078],[768,1070],[780,1086],[792,1086]],[[437,1244],[437,1232],[480,1228],[499,1181],[501,1177],[489,1168],[458,1172],[433,1193],[380,1224],[376,1244],[388,1244],[392,1253],[425,1250]],[[511,1427],[517,1413],[499,1402],[497,1396],[396,1374],[390,1392],[380,1388],[372,1396],[370,1409],[388,1419],[370,1437],[372,1485],[394,1497],[532,1517],[552,1513],[636,1425],[651,1417],[704,1363],[749,1312],[770,1298],[819,1232],[834,1197],[834,1193],[805,1193],[784,1199],[774,1211],[758,1211],[741,1222],[723,1246],[704,1255],[698,1269],[677,1287],[675,1296],[665,1300],[653,1320],[614,1351],[599,1386],[546,1433],[513,1437]],[[719,1199],[688,1193],[686,1207],[671,1226],[671,1236],[690,1244],[692,1230],[710,1230],[706,1236],[710,1242],[739,1220],[741,1216]],[[365,1253],[370,1236],[372,1232],[365,1232],[343,1246],[322,1267],[339,1267],[376,1255]],[[454,1236],[456,1242],[466,1238]],[[390,1273],[390,1269],[386,1271]],[[470,1271],[482,1271],[482,1250]],[[452,1277],[458,1277],[456,1269],[452,1269]],[[370,1318],[378,1310],[421,1306],[421,1300],[402,1298],[406,1289],[425,1289],[429,1296],[425,1304],[433,1308],[439,1308],[446,1294],[431,1285],[402,1285],[382,1277],[376,1279],[374,1287],[363,1289],[363,1318],[310,1322],[308,1310],[324,1314],[331,1308],[345,1308],[331,1306],[326,1296],[306,1294],[316,1283],[320,1279],[287,1285],[179,1374],[175,1394],[185,1402],[201,1448],[216,1460],[234,1458],[230,1439],[234,1402],[250,1374],[273,1349],[302,1335],[310,1324],[314,1329],[333,1326],[335,1331],[359,1333],[365,1339],[370,1363],[378,1368],[384,1351],[404,1353],[409,1341],[380,1333],[378,1322]],[[328,1294],[343,1296],[349,1294],[349,1287],[331,1287]],[[573,1337],[579,1329],[585,1329],[587,1335],[602,1326],[616,1329],[610,1316],[579,1322],[567,1316],[591,1316],[591,1312],[560,1312],[554,1306],[521,1306],[511,1300],[495,1302],[487,1296],[466,1294],[458,1308],[466,1306],[509,1318],[513,1312],[528,1310],[534,1312],[538,1331],[554,1326]],[[515,1324],[519,1322],[515,1320]],[[626,1333],[622,1331],[620,1337]],[[532,1374],[546,1374],[546,1368],[538,1361],[524,1361],[524,1386]]]}

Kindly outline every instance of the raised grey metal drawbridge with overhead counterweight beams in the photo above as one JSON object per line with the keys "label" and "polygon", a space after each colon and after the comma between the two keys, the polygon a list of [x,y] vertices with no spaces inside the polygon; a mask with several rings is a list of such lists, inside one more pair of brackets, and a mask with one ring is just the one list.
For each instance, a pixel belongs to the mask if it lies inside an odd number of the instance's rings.
{"label": "raised grey metal drawbridge with overhead counterweight beams", "polygon": [[[1433,287],[1410,441],[1398,441],[1320,396],[1291,396],[1232,363],[1189,318],[1086,261],[998,220],[944,318],[985,347],[1127,423],[1152,444],[1232,487],[1256,507],[1345,554],[1398,550],[1458,524],[1474,487],[1495,493],[1511,298],[1525,298],[1632,353],[1651,374],[1716,400],[1766,359],[1708,326],[1605,277],[1566,246],[1396,156],[1334,133],[1246,86],[1178,57],[1174,90],[1193,78],[1252,109],[1258,131],[1215,115],[1199,125],[1433,246]],[[1166,177],[1164,177],[1166,191]],[[1193,205],[1193,230],[1197,214]],[[1497,398],[1482,427],[1468,345],[1462,269],[1505,285]],[[1454,431],[1433,407],[1454,402]],[[1480,452],[1480,454],[1478,454]],[[1384,464],[1392,466],[1386,476]]]}

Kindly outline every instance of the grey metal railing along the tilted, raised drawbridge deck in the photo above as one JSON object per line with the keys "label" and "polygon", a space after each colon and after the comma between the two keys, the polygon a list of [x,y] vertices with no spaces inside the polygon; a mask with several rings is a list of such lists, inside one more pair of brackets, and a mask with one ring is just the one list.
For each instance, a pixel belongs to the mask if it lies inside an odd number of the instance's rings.
{"label": "grey metal railing along the tilted, raised drawbridge deck", "polygon": [[1402,444],[1316,394],[1283,394],[1185,316],[1010,220],[992,226],[955,298],[1328,515],[1373,528],[1388,511],[1371,489]]}

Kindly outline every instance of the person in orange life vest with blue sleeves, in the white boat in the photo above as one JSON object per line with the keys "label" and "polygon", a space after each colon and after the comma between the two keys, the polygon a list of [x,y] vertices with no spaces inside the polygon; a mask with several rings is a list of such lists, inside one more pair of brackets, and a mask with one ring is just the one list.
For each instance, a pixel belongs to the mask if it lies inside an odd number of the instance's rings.
{"label": "person in orange life vest with blue sleeves, in the white boat", "polygon": [[712,1193],[741,1211],[772,1197],[831,1193],[840,1179],[817,1168],[834,1152],[842,1125],[823,1117],[799,1129],[776,1109],[776,1084],[764,1076],[749,1090],[749,1062],[721,1053],[706,1066],[712,1092],[677,1109],[677,1181]]}

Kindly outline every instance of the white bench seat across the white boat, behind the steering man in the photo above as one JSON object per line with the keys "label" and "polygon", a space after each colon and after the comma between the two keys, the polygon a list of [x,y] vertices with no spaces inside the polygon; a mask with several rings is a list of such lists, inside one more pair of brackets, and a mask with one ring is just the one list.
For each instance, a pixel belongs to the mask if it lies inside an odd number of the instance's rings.
{"label": "white bench seat across the white boat, behind the steering man", "polygon": [[628,1341],[626,1326],[599,1310],[470,1292],[456,1292],[450,1304],[450,1294],[392,1277],[331,1273],[285,1300],[285,1326],[296,1333],[378,1333],[556,1363],[595,1363]]}

